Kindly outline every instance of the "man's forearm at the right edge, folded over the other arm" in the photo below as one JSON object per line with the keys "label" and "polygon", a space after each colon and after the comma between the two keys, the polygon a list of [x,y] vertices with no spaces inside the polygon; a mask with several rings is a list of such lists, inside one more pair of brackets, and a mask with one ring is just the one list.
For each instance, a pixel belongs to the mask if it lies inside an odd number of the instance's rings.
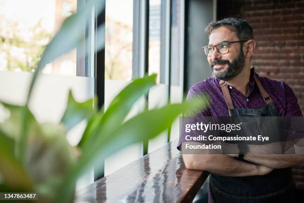
{"label": "man's forearm at the right edge, folded over the other arm", "polygon": [[300,165],[304,161],[303,154],[246,154],[244,159],[266,167],[279,169]]}

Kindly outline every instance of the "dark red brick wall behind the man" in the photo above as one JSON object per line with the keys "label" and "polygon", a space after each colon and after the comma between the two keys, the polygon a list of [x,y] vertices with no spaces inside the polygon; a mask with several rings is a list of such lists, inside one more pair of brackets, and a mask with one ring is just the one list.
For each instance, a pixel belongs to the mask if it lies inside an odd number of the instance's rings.
{"label": "dark red brick wall behind the man", "polygon": [[[304,114],[304,0],[218,0],[217,12],[218,19],[241,17],[252,25],[256,72],[287,83]],[[304,166],[293,173],[304,189]]]}

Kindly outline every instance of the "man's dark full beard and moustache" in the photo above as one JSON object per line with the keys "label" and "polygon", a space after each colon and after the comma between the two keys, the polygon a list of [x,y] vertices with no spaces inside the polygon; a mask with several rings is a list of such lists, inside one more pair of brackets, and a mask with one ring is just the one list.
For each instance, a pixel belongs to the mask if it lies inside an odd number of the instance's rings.
{"label": "man's dark full beard and moustache", "polygon": [[[214,66],[217,64],[227,64],[228,68],[225,71],[215,71],[214,70]],[[219,80],[224,80],[224,81],[229,81],[231,79],[233,79],[234,77],[238,76],[240,74],[240,72],[242,72],[242,70],[244,69],[244,65],[245,65],[245,57],[242,51],[240,51],[240,54],[238,55],[238,57],[236,59],[234,59],[232,61],[232,63],[230,63],[230,61],[228,60],[216,60],[213,61],[210,64],[211,69],[213,70],[213,75],[218,78]]]}

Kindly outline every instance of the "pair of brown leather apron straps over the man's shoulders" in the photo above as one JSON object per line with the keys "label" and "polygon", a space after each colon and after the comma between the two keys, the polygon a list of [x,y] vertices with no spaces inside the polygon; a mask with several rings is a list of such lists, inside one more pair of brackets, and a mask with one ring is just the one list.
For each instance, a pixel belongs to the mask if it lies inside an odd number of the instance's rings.
{"label": "pair of brown leather apron straps over the man's shoulders", "polygon": [[[265,89],[263,88],[260,80],[254,75],[253,76],[254,80],[255,80],[255,83],[264,99],[264,101],[267,103],[267,104],[270,104],[270,103],[273,103],[270,96],[268,95],[268,93],[265,91]],[[233,103],[232,103],[232,100],[231,100],[231,96],[230,96],[230,93],[229,93],[229,90],[228,90],[228,87],[226,85],[226,82],[225,81],[220,81],[220,87],[222,89],[222,92],[223,92],[223,95],[224,95],[224,98],[225,98],[225,101],[227,103],[227,106],[229,109],[234,109],[234,106],[233,106]]]}

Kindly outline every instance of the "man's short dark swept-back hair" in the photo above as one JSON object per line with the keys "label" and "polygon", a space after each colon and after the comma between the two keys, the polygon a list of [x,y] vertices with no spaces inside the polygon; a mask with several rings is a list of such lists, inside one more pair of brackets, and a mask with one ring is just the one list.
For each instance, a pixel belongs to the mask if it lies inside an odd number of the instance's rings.
{"label": "man's short dark swept-back hair", "polygon": [[225,26],[229,30],[235,32],[239,40],[253,39],[252,27],[246,20],[241,18],[228,17],[217,22],[212,21],[206,27],[205,32],[210,36],[213,30],[222,26]]}

